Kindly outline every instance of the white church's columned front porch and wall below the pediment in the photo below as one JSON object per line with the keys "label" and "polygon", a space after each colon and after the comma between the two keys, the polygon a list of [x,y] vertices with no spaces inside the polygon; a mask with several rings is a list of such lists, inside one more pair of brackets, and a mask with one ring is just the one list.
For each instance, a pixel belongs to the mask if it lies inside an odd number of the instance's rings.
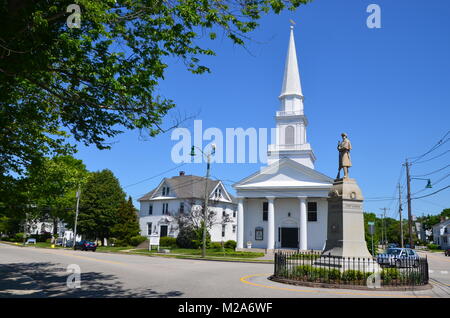
{"label": "white church's columned front porch and wall below the pediment", "polygon": [[240,197],[238,202],[243,211],[243,220],[238,221],[238,248],[323,248],[326,237],[320,233],[326,232],[326,198],[273,195]]}

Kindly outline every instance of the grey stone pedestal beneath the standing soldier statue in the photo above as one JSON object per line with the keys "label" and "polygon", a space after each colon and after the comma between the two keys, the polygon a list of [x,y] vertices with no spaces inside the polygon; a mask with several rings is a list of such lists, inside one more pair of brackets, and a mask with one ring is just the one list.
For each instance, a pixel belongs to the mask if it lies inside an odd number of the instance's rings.
{"label": "grey stone pedestal beneath the standing soldier statue", "polygon": [[324,255],[372,258],[364,238],[363,196],[355,179],[336,179],[328,197]]}

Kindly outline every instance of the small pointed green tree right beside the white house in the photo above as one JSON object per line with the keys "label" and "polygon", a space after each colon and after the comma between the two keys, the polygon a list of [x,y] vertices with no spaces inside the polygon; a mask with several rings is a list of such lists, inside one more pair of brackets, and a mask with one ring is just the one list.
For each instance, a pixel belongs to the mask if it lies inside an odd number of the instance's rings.
{"label": "small pointed green tree right beside the white house", "polygon": [[131,244],[131,239],[139,235],[140,228],[136,209],[131,197],[127,202],[122,202],[117,211],[117,223],[111,229],[111,235],[126,244]]}

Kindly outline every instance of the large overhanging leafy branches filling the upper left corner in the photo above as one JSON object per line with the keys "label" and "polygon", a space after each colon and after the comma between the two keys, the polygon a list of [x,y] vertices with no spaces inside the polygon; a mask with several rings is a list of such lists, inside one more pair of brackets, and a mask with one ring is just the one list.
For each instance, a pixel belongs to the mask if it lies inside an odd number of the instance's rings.
{"label": "large overhanging leafy branches filling the upper left corner", "polygon": [[68,134],[103,149],[121,129],[167,130],[174,102],[156,92],[168,57],[209,72],[200,57],[215,52],[199,38],[222,32],[244,45],[262,15],[309,1],[77,0],[70,28],[73,0],[1,0],[0,175],[69,154]]}

